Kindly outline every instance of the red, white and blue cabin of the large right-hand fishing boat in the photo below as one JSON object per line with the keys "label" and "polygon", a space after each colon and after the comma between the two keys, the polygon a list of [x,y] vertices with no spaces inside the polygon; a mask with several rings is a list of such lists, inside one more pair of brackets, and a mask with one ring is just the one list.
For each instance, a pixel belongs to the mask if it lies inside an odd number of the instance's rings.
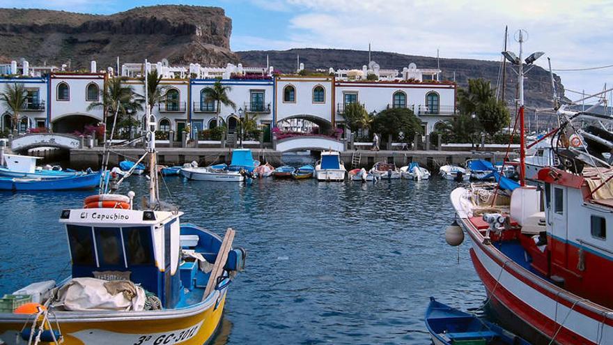
{"label": "red, white and blue cabin of the large right-hand fishing boat", "polygon": [[[605,173],[605,179],[612,175]],[[613,270],[613,183],[603,183],[595,171],[580,176],[552,167],[538,171],[538,181],[543,190],[524,187],[511,197],[511,217],[522,233],[546,236],[546,243],[545,238],[522,240],[531,269],[578,296],[613,307],[613,276],[607,274]],[[522,196],[527,193],[541,197]]]}

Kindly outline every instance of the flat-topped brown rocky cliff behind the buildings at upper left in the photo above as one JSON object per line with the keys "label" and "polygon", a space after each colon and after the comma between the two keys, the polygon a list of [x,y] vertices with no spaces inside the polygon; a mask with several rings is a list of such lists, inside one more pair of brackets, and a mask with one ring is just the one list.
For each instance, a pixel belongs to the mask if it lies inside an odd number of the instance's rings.
{"label": "flat-topped brown rocky cliff behind the buildings at upper left", "polygon": [[72,69],[86,68],[91,60],[115,66],[117,56],[223,66],[238,62],[231,32],[231,19],[214,7],[150,6],[114,15],[0,9],[3,56],[36,65],[69,63]]}

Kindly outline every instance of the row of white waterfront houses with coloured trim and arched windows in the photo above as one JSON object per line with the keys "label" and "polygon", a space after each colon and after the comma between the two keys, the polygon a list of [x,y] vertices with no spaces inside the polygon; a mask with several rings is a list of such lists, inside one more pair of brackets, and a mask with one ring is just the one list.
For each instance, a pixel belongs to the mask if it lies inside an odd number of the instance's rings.
{"label": "row of white waterfront houses with coloured trim and arched windows", "polygon": [[[203,90],[215,84],[231,86],[228,95],[236,108],[222,105],[219,118],[228,132],[235,132],[238,118],[248,114],[255,118],[270,140],[274,127],[292,128],[297,121],[332,128],[344,128],[343,112],[353,102],[359,102],[368,112],[380,112],[390,107],[408,107],[421,119],[425,133],[435,129],[456,113],[456,85],[439,82],[440,70],[419,69],[411,63],[403,70],[385,70],[371,61],[355,70],[318,70],[316,74],[300,75],[301,64],[293,75],[279,75],[274,68],[243,67],[228,64],[225,68],[169,66],[166,61],[125,63],[117,73],[113,68],[98,70],[91,62],[90,72],[67,72],[62,68],[18,65],[0,66],[0,91],[7,84],[21,83],[28,97],[20,112],[19,131],[29,128],[49,128],[54,132],[75,132],[85,125],[102,121],[102,109],[89,105],[100,101],[100,90],[114,75],[126,77],[134,91],[143,94],[141,77],[145,70],[157,70],[162,75],[164,101],[155,109],[158,130],[180,133],[189,124],[192,133],[217,125],[215,104],[207,102]],[[367,79],[375,75],[375,81]],[[0,105],[0,128],[11,127],[11,116]],[[142,118],[143,114],[133,114]],[[178,139],[176,137],[175,139]]]}

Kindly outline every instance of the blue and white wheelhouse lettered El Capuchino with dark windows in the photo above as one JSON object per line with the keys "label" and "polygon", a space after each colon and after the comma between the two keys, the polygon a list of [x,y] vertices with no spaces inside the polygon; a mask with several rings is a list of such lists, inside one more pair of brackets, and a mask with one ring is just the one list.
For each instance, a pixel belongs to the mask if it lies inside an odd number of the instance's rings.
{"label": "blue and white wheelhouse lettered El Capuchino with dark windows", "polygon": [[72,277],[130,280],[166,308],[182,296],[179,216],[183,213],[117,208],[63,210]]}

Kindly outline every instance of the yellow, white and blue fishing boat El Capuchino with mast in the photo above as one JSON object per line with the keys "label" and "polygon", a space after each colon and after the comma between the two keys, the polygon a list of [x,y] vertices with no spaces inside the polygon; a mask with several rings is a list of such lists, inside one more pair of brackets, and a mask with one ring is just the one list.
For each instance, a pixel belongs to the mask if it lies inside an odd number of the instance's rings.
{"label": "yellow, white and blue fishing boat El Capuchino with mast", "polygon": [[[183,212],[160,200],[157,121],[149,111],[148,198],[135,203],[134,192],[114,194],[123,178],[100,178],[100,194],[61,211],[71,273],[61,282],[49,274],[5,295],[0,344],[201,345],[214,336],[245,251],[232,248],[232,229],[222,239],[181,224]],[[108,155],[103,171],[107,165]],[[30,267],[23,269],[27,275]]]}

